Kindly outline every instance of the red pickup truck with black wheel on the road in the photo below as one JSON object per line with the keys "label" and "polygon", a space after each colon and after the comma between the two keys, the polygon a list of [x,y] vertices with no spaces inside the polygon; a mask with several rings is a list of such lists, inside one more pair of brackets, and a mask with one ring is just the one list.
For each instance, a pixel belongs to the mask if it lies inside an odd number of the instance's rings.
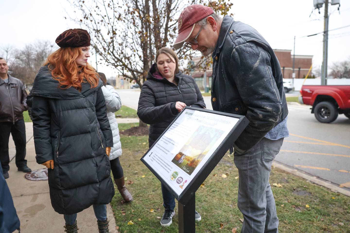
{"label": "red pickup truck with black wheel on the road", "polygon": [[350,118],[350,85],[303,85],[299,103],[311,105],[311,113],[322,123],[331,123],[338,114]]}

